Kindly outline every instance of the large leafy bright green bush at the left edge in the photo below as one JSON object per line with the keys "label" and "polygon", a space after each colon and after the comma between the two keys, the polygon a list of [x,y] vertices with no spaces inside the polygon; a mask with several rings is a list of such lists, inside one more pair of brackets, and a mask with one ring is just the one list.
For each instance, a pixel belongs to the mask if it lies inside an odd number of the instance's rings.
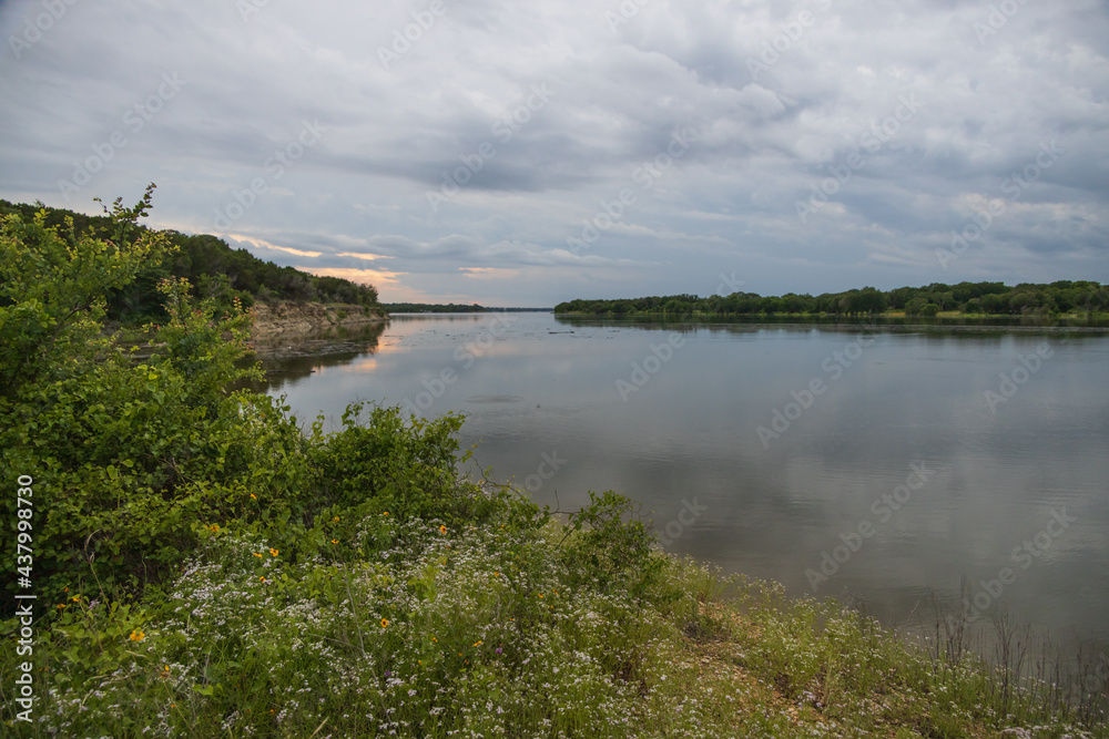
{"label": "large leafy bright green bush at the left edge", "polygon": [[[152,191],[132,208],[115,202],[110,238],[48,226],[43,214],[0,224],[0,469],[35,480],[35,582],[47,597],[84,578],[157,579],[201,520],[234,514],[230,483],[272,469],[282,449],[252,420],[269,399],[226,391],[261,378],[235,367],[245,315],[217,322],[187,280],[163,280],[171,320],[153,356],[138,360],[103,332],[109,292],[167,252],[164,234],[138,227]],[[16,521],[10,500],[0,507]],[[9,587],[12,566],[0,564]]]}

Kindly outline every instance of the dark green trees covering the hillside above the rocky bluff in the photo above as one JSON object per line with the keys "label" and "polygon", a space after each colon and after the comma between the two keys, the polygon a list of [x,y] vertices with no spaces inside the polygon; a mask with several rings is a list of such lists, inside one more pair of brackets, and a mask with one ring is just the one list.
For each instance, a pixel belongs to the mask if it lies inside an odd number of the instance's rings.
{"label": "dark green trees covering the hillside above the rocky bluff", "polygon": [[[114,226],[106,216],[88,216],[63,208],[9,203],[0,199],[0,216],[19,214],[30,222],[39,211],[47,212],[47,224],[59,227],[65,235],[65,218],[73,219],[77,235],[91,234],[111,239]],[[145,227],[142,227],[145,229]],[[167,277],[187,278],[193,285],[193,294],[201,298],[213,298],[221,308],[228,308],[234,298],[243,306],[255,302],[346,302],[378,307],[377,290],[368,285],[358,285],[338,277],[317,277],[293,267],[278,267],[272,261],[258,259],[247,249],[233,249],[222,238],[202,234],[185,234],[166,230],[170,242],[176,247],[157,267],[147,268],[138,279],[122,290],[112,291],[108,302],[108,318],[124,322],[157,321],[166,318],[162,308],[164,296],[159,294],[157,284]]]}

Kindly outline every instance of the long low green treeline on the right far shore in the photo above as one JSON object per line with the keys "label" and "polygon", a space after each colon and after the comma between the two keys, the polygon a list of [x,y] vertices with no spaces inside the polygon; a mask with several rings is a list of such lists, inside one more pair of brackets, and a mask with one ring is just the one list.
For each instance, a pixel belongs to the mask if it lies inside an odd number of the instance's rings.
{"label": "long low green treeline on the right far shore", "polygon": [[1086,280],[1060,280],[1050,285],[1022,283],[933,283],[925,287],[899,287],[883,291],[873,287],[812,296],[788,292],[761,296],[732,292],[701,298],[695,295],[621,300],[569,300],[554,307],[557,314],[642,315],[842,315],[857,316],[886,311],[908,316],[935,316],[940,311],[973,315],[1024,316],[1097,314],[1109,310],[1109,287]]}

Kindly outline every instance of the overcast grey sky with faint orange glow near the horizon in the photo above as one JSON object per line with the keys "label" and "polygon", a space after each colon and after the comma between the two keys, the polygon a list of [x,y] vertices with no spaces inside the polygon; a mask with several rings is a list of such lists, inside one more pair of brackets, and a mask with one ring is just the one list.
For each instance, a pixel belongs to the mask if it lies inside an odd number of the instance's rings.
{"label": "overcast grey sky with faint orange glow near the horizon", "polygon": [[1103,0],[0,0],[0,197],[552,306],[1109,281]]}

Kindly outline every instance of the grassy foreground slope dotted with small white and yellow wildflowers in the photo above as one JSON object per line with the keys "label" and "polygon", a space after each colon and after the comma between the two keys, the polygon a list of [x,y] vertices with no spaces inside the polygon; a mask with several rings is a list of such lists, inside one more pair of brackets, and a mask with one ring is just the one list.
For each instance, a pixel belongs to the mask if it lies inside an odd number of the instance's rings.
{"label": "grassy foreground slope dotted with small white and yellow wildflowers", "polygon": [[39,635],[35,721],[12,722],[8,691],[2,719],[31,737],[1109,736],[1103,705],[1080,716],[1027,679],[1003,700],[969,650],[835,602],[658,551],[633,594],[553,519],[342,532],[293,563],[210,530],[139,604],[73,594]]}

